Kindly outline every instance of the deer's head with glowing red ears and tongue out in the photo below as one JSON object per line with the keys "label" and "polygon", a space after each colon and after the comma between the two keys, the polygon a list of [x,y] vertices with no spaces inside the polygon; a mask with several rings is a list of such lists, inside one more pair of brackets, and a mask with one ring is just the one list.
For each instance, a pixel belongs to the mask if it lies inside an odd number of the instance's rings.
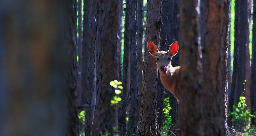
{"label": "deer's head with glowing red ears and tongue out", "polygon": [[168,51],[158,51],[156,45],[152,41],[147,42],[148,52],[156,58],[157,68],[166,72],[168,67],[171,67],[172,56],[175,56],[179,50],[179,44],[177,41],[172,43]]}

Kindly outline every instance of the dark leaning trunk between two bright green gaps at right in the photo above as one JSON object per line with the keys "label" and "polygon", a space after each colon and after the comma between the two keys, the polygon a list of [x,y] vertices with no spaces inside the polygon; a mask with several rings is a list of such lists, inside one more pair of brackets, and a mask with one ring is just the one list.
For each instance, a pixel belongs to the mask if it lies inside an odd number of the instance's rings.
{"label": "dark leaning trunk between two bright green gaps at right", "polygon": [[[229,99],[229,111],[232,112],[233,105],[237,105],[239,97],[244,96],[244,89],[246,89],[244,80],[246,80],[246,46],[247,46],[247,28],[248,23],[248,1],[235,0],[235,22],[234,22],[234,60],[233,60],[233,75],[231,83],[231,95]],[[232,116],[228,117],[228,125],[236,127],[239,122],[231,123]]]}

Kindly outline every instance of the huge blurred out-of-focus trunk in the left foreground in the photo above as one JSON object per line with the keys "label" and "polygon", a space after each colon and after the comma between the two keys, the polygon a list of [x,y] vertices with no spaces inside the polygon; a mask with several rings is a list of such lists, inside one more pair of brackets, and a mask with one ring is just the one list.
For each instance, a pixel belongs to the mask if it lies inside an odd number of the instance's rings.
{"label": "huge blurred out-of-focus trunk in the left foreground", "polygon": [[0,3],[0,135],[78,135],[75,1]]}

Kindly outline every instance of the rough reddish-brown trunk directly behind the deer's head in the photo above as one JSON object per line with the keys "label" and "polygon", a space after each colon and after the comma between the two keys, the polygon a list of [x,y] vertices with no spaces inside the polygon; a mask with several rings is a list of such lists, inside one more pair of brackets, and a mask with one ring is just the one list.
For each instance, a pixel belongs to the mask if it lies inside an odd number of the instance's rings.
{"label": "rough reddish-brown trunk directly behind the deer's head", "polygon": [[[147,30],[145,49],[147,49],[147,41],[151,40],[160,44],[160,26],[161,26],[161,0],[149,0],[147,3]],[[143,84],[142,84],[142,102],[140,105],[139,135],[150,136],[159,135],[157,132],[157,69],[156,59],[145,51],[143,64]]]}

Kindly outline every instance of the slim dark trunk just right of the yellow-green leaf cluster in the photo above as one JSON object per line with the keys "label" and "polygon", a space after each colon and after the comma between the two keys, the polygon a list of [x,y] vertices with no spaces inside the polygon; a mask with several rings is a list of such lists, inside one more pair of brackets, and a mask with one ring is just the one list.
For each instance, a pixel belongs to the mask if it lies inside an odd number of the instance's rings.
{"label": "slim dark trunk just right of the yellow-green leaf cluster", "polygon": [[130,110],[129,110],[129,121],[127,124],[127,136],[133,136],[133,134],[137,134],[137,124],[138,124],[138,58],[137,58],[137,19],[136,19],[136,11],[137,11],[137,0],[129,0],[129,21],[130,22],[130,63],[131,63],[131,84],[130,84]]}

